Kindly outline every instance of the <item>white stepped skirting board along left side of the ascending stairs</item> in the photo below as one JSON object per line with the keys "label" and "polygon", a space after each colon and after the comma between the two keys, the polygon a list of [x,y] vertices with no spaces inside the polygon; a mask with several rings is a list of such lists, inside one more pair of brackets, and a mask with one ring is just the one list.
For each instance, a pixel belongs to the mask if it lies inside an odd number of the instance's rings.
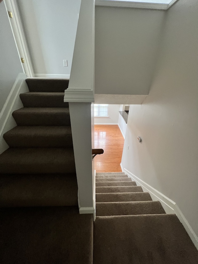
{"label": "white stepped skirting board along left side of the ascending stairs", "polygon": [[24,107],[19,93],[29,92],[28,85],[25,79],[27,76],[24,73],[19,73],[14,85],[6,99],[6,102],[0,113],[0,154],[9,148],[6,141],[3,139],[3,134],[16,126],[16,122],[12,117],[12,112]]}

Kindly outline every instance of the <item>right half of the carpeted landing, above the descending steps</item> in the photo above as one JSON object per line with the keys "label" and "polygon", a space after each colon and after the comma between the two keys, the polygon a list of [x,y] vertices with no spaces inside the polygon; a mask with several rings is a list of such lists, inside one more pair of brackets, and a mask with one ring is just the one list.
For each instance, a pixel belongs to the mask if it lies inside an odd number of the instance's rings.
{"label": "right half of the carpeted landing, above the descending steps", "polygon": [[198,252],[174,214],[100,216],[94,264],[197,264]]}

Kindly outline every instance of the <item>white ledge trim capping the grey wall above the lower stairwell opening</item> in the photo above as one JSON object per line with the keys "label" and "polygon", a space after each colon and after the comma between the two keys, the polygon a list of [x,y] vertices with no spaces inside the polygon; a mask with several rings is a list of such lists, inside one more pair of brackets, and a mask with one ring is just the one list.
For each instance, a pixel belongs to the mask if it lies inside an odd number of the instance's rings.
{"label": "white ledge trim capping the grey wall above the lower stairwell opening", "polygon": [[135,2],[135,1],[118,1],[118,0],[96,0],[96,6],[113,6],[113,7],[131,7],[167,10],[178,0],[172,0],[170,3],[152,3],[152,2]]}

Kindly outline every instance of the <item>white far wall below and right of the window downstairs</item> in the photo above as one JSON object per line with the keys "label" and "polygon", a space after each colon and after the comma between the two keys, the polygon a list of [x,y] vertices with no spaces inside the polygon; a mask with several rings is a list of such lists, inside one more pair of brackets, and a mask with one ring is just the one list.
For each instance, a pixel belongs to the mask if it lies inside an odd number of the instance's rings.
{"label": "white far wall below and right of the window downstairs", "polygon": [[118,124],[120,105],[109,105],[108,117],[94,117],[94,124]]}

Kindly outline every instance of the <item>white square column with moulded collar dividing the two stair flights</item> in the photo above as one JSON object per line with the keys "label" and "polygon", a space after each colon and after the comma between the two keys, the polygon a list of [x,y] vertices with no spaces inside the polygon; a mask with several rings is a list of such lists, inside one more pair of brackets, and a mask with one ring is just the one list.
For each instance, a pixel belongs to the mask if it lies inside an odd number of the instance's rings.
{"label": "white square column with moulded collar dividing the two stair flights", "polygon": [[81,0],[69,87],[69,102],[78,201],[81,214],[95,214],[93,106],[95,0]]}

